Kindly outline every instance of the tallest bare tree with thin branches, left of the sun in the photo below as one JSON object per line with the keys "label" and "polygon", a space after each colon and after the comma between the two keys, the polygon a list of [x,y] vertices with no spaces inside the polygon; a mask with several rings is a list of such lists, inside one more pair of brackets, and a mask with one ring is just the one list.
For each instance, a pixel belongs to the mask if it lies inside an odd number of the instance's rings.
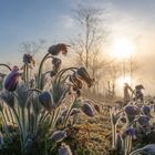
{"label": "tallest bare tree with thin branches, left of the sun", "polygon": [[[78,6],[74,10],[80,33],[71,40],[71,45],[79,56],[79,63],[90,68],[90,53],[94,46],[101,45],[107,34],[103,24],[104,10]],[[102,25],[102,27],[101,27]]]}

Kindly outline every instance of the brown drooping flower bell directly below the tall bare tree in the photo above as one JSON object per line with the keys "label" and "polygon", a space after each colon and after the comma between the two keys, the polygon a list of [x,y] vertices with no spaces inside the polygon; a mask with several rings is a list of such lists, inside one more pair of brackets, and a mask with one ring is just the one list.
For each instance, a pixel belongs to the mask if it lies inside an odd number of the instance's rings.
{"label": "brown drooping flower bell directly below the tall bare tree", "polygon": [[79,79],[84,81],[87,84],[89,87],[91,87],[93,85],[94,80],[90,78],[85,68],[78,69],[76,75],[78,75]]}

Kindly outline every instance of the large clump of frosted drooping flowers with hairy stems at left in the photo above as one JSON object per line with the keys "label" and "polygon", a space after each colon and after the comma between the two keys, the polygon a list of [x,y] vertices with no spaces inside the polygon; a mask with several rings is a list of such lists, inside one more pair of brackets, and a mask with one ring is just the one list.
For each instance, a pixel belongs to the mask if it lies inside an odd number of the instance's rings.
{"label": "large clump of frosted drooping flowers with hairy stems at left", "polygon": [[[61,69],[62,62],[58,55],[66,55],[68,46],[59,43],[49,48],[35,80],[30,76],[30,65],[35,64],[30,54],[23,55],[22,73],[16,65],[12,69],[6,65],[10,73],[6,75],[0,92],[0,113],[3,116],[0,144],[4,145],[4,149],[9,147],[8,141],[20,140],[21,154],[34,154],[37,149],[40,149],[40,154],[44,154],[44,149],[45,154],[53,154],[54,147],[59,146],[56,154],[72,155],[70,146],[62,143],[68,136],[66,128],[76,124],[81,113],[92,117],[95,110],[100,112],[96,104],[83,101],[80,95],[84,83],[89,87],[93,84],[86,69]],[[43,72],[48,59],[52,59],[51,70]],[[44,143],[44,148],[39,148],[39,143]]]}

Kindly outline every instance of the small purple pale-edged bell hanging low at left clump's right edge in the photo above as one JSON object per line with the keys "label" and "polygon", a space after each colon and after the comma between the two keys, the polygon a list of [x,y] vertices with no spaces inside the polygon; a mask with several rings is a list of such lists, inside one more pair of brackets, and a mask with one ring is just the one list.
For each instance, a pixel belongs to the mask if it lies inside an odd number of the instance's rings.
{"label": "small purple pale-edged bell hanging low at left clump's right edge", "polygon": [[83,105],[82,105],[82,112],[83,112],[84,114],[86,114],[87,116],[90,116],[90,117],[93,117],[93,116],[94,116],[94,110],[93,110],[92,106],[91,106],[89,103],[86,103],[86,102],[84,102]]}

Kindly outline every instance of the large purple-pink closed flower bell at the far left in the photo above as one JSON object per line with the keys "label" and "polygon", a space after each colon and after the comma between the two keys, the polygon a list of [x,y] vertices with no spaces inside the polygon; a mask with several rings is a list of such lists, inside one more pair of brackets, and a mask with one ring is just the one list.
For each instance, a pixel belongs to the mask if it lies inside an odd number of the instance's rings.
{"label": "large purple-pink closed flower bell at the far left", "polygon": [[13,92],[19,83],[19,68],[14,65],[11,72],[7,75],[3,86],[7,91]]}

